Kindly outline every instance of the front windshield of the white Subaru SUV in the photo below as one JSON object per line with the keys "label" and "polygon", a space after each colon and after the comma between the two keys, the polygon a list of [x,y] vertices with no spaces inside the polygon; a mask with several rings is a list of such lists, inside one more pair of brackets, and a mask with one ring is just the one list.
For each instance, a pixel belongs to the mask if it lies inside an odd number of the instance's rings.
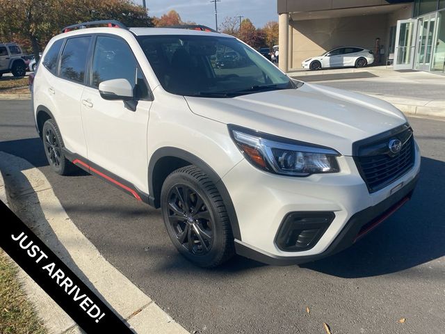
{"label": "front windshield of the white Subaru SUV", "polygon": [[236,38],[147,35],[138,42],[169,93],[234,97],[296,85],[264,56]]}

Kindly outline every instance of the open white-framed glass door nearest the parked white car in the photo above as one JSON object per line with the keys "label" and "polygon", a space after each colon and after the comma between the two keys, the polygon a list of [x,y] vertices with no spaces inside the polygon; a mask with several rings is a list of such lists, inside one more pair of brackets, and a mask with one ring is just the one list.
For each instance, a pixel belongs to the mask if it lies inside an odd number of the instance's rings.
{"label": "open white-framed glass door nearest the parked white car", "polygon": [[397,22],[394,70],[414,68],[417,19],[401,19]]}

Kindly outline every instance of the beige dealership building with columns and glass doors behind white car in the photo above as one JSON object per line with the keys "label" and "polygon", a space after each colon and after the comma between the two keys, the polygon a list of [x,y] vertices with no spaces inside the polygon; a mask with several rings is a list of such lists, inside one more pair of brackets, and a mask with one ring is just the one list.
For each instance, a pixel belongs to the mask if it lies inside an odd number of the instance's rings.
{"label": "beige dealership building with columns and glass doors behind white car", "polygon": [[445,0],[277,0],[280,68],[342,46],[395,70],[445,72]]}

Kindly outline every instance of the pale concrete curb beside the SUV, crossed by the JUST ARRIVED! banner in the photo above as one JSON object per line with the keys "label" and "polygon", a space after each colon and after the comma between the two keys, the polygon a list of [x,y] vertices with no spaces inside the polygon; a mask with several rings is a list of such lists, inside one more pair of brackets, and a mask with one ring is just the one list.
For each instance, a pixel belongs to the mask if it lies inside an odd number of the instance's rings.
{"label": "pale concrete curb beside the SUV, crossed by the JUST ARRIVED! banner", "polygon": [[[38,168],[0,152],[0,199],[44,241],[97,296],[135,333],[188,333],[166,312],[113,267],[74,225]],[[1,177],[4,174],[5,178]],[[24,271],[29,300],[49,333],[83,333],[79,326]]]}

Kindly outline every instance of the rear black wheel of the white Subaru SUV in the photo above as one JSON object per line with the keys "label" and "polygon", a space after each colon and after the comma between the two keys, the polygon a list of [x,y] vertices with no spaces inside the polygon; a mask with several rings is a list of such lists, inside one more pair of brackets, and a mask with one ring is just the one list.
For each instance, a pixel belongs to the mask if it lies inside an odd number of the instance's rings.
{"label": "rear black wheel of the white Subaru SUV", "polygon": [[70,175],[79,170],[71,161],[66,159],[63,153],[63,140],[54,120],[44,122],[42,129],[42,140],[44,152],[47,156],[49,166],[59,175]]}

